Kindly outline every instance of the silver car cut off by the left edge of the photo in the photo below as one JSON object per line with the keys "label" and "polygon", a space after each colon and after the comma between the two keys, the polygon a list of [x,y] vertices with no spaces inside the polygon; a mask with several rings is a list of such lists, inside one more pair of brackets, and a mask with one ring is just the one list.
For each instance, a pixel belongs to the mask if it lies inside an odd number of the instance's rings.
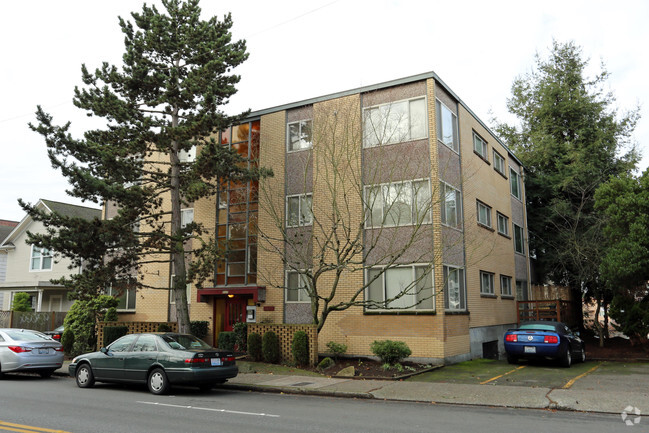
{"label": "silver car cut off by the left edge of the photo", "polygon": [[63,365],[63,346],[42,332],[0,329],[0,377],[29,372],[50,377]]}

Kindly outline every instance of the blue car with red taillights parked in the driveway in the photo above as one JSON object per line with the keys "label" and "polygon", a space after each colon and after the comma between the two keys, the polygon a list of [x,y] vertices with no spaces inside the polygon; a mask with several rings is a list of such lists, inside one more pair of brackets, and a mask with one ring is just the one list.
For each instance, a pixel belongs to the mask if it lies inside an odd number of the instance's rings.
{"label": "blue car with red taillights parked in the driveway", "polygon": [[570,367],[573,360],[586,360],[586,345],[561,322],[535,321],[522,323],[505,332],[505,352],[510,364],[521,358],[558,360]]}

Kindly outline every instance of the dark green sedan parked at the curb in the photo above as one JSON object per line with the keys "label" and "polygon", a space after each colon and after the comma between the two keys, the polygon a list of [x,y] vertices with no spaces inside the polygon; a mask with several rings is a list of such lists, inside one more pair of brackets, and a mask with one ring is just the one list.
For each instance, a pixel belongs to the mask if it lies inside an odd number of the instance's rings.
{"label": "dark green sedan parked at the curb", "polygon": [[208,390],[239,373],[232,351],[210,346],[193,335],[128,334],[99,352],[77,356],[69,367],[80,388],[95,382],[146,383],[153,394],[172,385]]}

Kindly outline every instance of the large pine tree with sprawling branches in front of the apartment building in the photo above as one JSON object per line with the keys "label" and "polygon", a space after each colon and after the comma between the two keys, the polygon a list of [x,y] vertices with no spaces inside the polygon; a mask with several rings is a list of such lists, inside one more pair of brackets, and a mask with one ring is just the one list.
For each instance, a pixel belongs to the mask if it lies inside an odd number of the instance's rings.
{"label": "large pine tree with sprawling branches in front of the apartment building", "polygon": [[[117,215],[84,221],[21,205],[50,228],[30,242],[83,263],[80,275],[59,281],[78,299],[108,286],[141,288],[143,267],[171,262],[178,329],[189,332],[186,284],[200,287],[222,252],[210,228],[181,224],[181,208],[213,197],[227,181],[269,173],[241,168],[241,157],[211,136],[246,114],[228,116],[220,109],[240,80],[232,69],[248,57],[245,41],[232,41],[231,16],[205,21],[198,0],[162,3],[165,11],[144,5],[131,14],[133,22],[119,19],[125,45],[121,68],[108,63],[94,72],[81,68],[84,86],[75,89],[74,104],[105,119],[104,128],[73,138],[69,123],[54,125],[40,107],[38,124],[30,125],[43,135],[53,166],[72,185],[68,192],[115,206]],[[194,160],[185,157],[195,149]],[[186,251],[190,239],[194,249]]]}

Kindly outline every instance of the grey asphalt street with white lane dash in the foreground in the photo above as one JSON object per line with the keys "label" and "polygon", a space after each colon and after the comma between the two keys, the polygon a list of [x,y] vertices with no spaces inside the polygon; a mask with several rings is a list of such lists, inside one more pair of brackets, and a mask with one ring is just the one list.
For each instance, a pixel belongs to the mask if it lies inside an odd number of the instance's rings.
{"label": "grey asphalt street with white lane dash in the foreground", "polygon": [[[646,422],[646,418],[643,420]],[[640,425],[642,426],[642,425]],[[77,388],[72,378],[0,381],[0,431],[520,432],[627,431],[619,415],[394,402],[230,389]]]}

